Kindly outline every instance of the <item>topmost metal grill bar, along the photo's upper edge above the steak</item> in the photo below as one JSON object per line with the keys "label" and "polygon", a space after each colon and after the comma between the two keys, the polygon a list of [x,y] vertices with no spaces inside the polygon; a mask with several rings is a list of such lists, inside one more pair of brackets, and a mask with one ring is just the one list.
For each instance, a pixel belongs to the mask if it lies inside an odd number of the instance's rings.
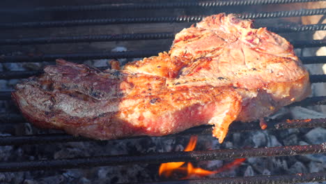
{"label": "topmost metal grill bar, along the photo's upper edge above the steak", "polygon": [[252,6],[267,5],[281,3],[305,3],[320,0],[244,0],[244,1],[205,1],[205,2],[171,2],[171,3],[132,3],[132,4],[101,4],[92,6],[53,6],[38,7],[24,9],[0,9],[0,13],[8,13],[14,11],[33,11],[33,12],[49,12],[49,11],[108,11],[108,10],[144,10],[144,9],[166,9],[166,8],[215,8],[220,6]]}

